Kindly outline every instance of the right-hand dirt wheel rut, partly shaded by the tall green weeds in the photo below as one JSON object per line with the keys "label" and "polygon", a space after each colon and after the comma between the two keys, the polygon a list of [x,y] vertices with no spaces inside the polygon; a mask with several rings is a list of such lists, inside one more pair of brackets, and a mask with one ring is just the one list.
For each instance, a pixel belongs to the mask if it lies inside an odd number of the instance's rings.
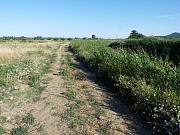
{"label": "right-hand dirt wheel rut, partly shaded by the tall green weeds", "polygon": [[[103,121],[112,122],[110,124],[110,129],[108,134],[112,135],[150,135],[151,132],[149,129],[143,124],[140,120],[140,117],[131,112],[128,106],[123,103],[117,96],[111,92],[109,92],[109,88],[107,88],[101,81],[98,80],[96,73],[90,72],[81,62],[76,60],[74,54],[66,51],[67,55],[69,55],[73,59],[74,68],[72,68],[72,73],[80,72],[85,77],[84,79],[75,79],[75,82],[72,84],[73,90],[77,93],[77,100],[81,100],[82,102],[86,102],[88,106],[82,107],[83,109],[78,110],[77,113],[82,113],[83,115],[92,115],[93,110],[95,109],[91,106],[90,100],[92,98],[96,99],[97,105],[95,107],[100,107],[105,111],[105,116],[100,116],[99,118],[95,118],[92,116],[92,121],[90,123],[84,123],[85,129],[87,131],[89,129],[89,135],[99,134],[96,131],[97,125],[103,125]],[[71,76],[73,77],[73,75]],[[76,78],[76,77],[75,77]],[[68,84],[68,82],[67,82]],[[91,107],[89,109],[88,107]],[[91,110],[91,111],[86,111]],[[136,118],[137,117],[137,118]],[[101,123],[102,122],[102,123]],[[88,126],[86,126],[88,124]],[[93,125],[92,127],[90,125]],[[81,126],[81,125],[80,125]],[[88,127],[88,128],[87,128]],[[100,133],[101,134],[101,133]]]}

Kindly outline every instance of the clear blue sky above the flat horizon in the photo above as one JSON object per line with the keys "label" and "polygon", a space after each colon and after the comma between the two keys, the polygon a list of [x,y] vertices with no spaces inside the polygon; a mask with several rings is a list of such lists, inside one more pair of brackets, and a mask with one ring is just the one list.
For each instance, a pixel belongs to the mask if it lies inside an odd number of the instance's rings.
{"label": "clear blue sky above the flat horizon", "polygon": [[180,32],[180,0],[1,0],[0,36],[124,38]]}

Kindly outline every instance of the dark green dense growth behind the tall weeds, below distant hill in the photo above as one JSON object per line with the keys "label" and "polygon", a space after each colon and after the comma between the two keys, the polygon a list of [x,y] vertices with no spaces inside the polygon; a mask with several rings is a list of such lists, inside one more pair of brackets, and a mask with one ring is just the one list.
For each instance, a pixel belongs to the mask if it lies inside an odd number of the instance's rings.
{"label": "dark green dense growth behind the tall weeds, below distant hill", "polygon": [[169,59],[176,65],[180,62],[180,40],[165,40],[159,38],[127,39],[118,43],[111,43],[109,47],[123,47],[129,51],[136,52],[143,50],[163,60]]}

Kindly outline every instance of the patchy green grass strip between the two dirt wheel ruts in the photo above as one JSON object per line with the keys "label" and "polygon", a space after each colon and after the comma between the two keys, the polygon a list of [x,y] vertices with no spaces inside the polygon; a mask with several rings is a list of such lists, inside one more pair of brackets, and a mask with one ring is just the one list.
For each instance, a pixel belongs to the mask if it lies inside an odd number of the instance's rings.
{"label": "patchy green grass strip between the two dirt wheel ruts", "polygon": [[[76,83],[86,79],[86,74],[73,67],[74,61],[70,55],[65,55],[64,59],[63,68],[68,69],[70,74],[68,75],[69,79],[65,80],[68,89],[65,93],[69,101],[67,104],[68,109],[61,116],[62,119],[64,119],[68,123],[69,128],[72,128],[77,134],[89,134],[89,132],[92,132],[91,128],[94,129],[94,133],[97,132],[102,135],[111,134],[110,122],[102,119],[106,116],[106,112],[102,108],[102,104],[98,102],[95,96],[88,90],[89,86],[83,84],[82,86],[78,86],[78,88],[76,87]],[[58,113],[55,115],[60,116]]]}

